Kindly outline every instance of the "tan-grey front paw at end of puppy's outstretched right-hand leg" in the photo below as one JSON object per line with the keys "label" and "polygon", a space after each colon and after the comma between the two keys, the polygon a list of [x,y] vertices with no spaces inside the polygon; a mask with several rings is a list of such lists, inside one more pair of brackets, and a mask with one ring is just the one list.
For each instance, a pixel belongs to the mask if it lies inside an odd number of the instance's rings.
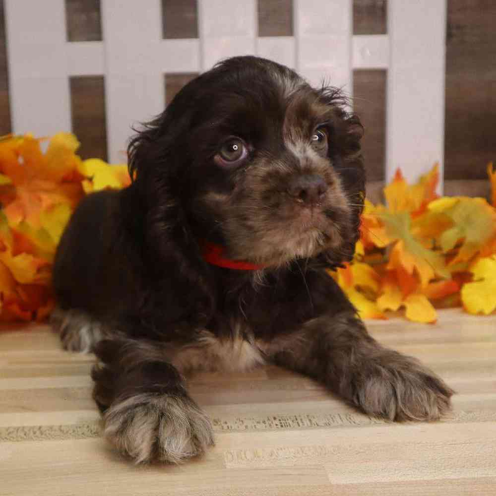
{"label": "tan-grey front paw at end of puppy's outstretched right-hand leg", "polygon": [[454,391],[411,357],[385,353],[352,380],[352,401],[365,413],[395,421],[438,420],[451,409]]}

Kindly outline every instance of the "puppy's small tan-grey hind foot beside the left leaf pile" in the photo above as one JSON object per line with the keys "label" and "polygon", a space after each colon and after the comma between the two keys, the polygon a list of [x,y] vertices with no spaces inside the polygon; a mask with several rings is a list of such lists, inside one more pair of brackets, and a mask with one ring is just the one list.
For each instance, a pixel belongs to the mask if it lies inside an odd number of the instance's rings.
{"label": "puppy's small tan-grey hind foot beside the left leaf pile", "polygon": [[56,308],[50,315],[50,324],[60,334],[62,347],[67,351],[90,353],[103,337],[101,323],[80,310]]}

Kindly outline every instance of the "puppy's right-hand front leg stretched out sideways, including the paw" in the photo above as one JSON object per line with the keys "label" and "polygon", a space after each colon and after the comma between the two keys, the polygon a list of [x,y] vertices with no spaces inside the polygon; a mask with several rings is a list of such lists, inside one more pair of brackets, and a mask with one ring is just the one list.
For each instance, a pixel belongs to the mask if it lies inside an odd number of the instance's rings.
{"label": "puppy's right-hand front leg stretched out sideways, including the paw", "polygon": [[436,420],[453,391],[412,357],[382,347],[352,313],[310,320],[268,346],[278,365],[307,373],[367,414]]}

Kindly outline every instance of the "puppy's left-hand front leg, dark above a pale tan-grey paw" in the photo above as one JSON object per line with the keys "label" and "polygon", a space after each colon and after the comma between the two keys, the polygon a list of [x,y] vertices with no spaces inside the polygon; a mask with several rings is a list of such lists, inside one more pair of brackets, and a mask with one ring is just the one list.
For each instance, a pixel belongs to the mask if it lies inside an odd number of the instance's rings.
{"label": "puppy's left-hand front leg, dark above a pale tan-grey paw", "polygon": [[93,397],[104,434],[136,463],[180,463],[213,444],[207,416],[188,396],[180,373],[157,345],[105,339],[95,347]]}

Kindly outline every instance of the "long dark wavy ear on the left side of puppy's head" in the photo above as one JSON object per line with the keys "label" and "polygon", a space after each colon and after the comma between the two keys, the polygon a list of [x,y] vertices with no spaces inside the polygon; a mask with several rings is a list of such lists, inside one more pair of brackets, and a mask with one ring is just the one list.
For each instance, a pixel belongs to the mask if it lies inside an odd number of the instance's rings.
{"label": "long dark wavy ear on the left side of puppy's head", "polygon": [[201,325],[213,312],[209,269],[185,214],[182,187],[187,185],[189,157],[182,135],[190,118],[174,101],[154,121],[145,124],[129,143],[132,188],[143,211],[143,257],[149,267],[154,315],[179,325]]}

